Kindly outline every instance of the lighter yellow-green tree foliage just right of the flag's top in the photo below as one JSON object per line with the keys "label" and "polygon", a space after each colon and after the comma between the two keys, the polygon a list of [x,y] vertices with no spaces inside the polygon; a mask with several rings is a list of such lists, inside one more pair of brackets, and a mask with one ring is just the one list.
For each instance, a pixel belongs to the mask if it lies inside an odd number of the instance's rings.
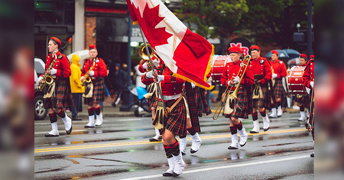
{"label": "lighter yellow-green tree foliage just right of the flag's top", "polygon": [[181,0],[181,3],[176,15],[191,30],[197,27],[196,32],[203,37],[227,38],[238,30],[241,17],[249,10],[246,0]]}

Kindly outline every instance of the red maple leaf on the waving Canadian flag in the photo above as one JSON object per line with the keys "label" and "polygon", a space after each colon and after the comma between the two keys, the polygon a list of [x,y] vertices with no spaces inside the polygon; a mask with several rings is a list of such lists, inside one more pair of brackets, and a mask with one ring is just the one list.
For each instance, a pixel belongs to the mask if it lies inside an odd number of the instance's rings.
{"label": "red maple leaf on the waving Canadian flag", "polygon": [[140,16],[139,7],[136,8],[134,4],[133,9],[135,14],[137,14],[137,18],[140,24],[143,33],[149,42],[149,44],[155,50],[155,46],[168,44],[167,39],[170,38],[173,34],[167,32],[164,28],[155,28],[157,24],[159,24],[165,17],[159,16],[159,5],[149,8],[148,3],[146,3],[144,10],[143,10],[143,17]]}

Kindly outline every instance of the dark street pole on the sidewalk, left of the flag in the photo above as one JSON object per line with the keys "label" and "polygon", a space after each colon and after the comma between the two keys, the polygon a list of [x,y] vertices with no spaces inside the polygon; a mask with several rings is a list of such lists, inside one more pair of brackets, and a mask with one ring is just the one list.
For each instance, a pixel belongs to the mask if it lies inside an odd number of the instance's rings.
{"label": "dark street pole on the sidewalk, left of the flag", "polygon": [[128,16],[128,76],[127,76],[127,84],[128,86],[123,90],[123,98],[122,98],[122,105],[119,108],[119,111],[130,111],[131,106],[129,106],[133,102],[133,94],[130,93],[131,90],[131,47],[130,47],[130,41],[131,41],[131,26],[132,26],[132,19],[129,14]]}

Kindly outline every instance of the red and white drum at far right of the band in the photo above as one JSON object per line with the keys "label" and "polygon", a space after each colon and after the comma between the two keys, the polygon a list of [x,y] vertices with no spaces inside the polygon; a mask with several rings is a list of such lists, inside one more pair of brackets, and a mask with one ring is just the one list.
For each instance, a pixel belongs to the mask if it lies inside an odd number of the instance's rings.
{"label": "red and white drum at far right of the band", "polygon": [[287,77],[289,92],[293,95],[309,95],[310,89],[303,86],[302,75],[306,66],[293,66]]}

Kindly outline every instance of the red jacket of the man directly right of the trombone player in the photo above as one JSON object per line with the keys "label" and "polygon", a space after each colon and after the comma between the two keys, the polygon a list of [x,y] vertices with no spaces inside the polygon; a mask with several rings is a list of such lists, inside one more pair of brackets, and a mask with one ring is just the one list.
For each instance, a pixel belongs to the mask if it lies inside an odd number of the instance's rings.
{"label": "red jacket of the man directly right of the trombone player", "polygon": [[259,74],[264,77],[263,79],[260,79],[260,83],[262,85],[271,80],[271,77],[272,77],[271,64],[266,58],[262,58],[259,56],[257,60],[252,59],[250,61],[250,67],[254,75]]}

